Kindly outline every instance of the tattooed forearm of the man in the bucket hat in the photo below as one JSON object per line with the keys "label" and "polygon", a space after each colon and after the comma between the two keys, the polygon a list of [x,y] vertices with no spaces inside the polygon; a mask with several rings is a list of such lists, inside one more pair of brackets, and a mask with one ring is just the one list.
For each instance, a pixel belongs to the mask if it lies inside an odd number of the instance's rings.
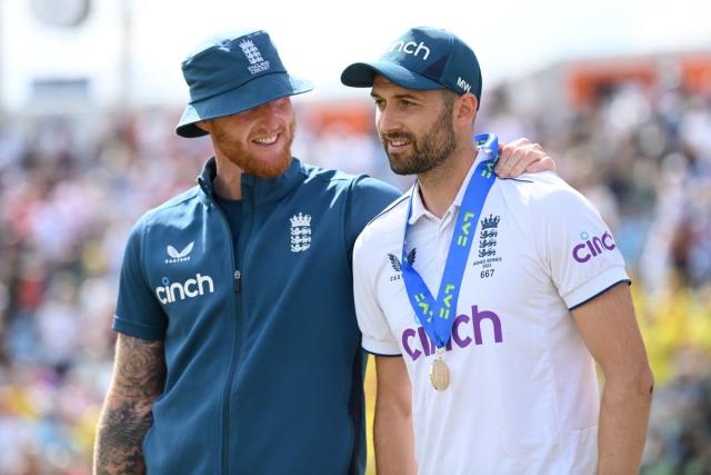
{"label": "tattooed forearm of the man in the bucket hat", "polygon": [[163,342],[119,334],[113,379],[97,432],[94,475],[146,473],[141,445],[164,383]]}

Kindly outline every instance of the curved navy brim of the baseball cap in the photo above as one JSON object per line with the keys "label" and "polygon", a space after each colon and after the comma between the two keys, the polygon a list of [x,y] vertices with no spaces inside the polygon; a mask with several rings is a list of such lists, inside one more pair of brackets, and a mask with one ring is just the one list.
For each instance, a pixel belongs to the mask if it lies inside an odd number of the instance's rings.
{"label": "curved navy brim of the baseball cap", "polygon": [[352,88],[370,88],[375,75],[405,89],[445,89],[422,75],[412,72],[397,62],[354,62],[341,73],[341,82]]}

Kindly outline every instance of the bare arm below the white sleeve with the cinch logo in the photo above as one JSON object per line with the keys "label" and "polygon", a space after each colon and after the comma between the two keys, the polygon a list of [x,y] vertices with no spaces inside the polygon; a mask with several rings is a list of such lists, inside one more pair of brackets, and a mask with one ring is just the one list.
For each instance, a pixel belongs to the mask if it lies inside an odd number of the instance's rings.
{"label": "bare arm below the white sleeve with the cinch logo", "polygon": [[572,314],[604,374],[597,473],[638,474],[654,379],[629,287],[618,284]]}

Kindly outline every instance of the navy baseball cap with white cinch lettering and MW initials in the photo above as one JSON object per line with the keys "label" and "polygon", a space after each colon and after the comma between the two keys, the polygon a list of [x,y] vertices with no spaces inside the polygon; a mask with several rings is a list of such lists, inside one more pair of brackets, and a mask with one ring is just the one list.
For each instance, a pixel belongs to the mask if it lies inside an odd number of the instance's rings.
{"label": "navy baseball cap with white cinch lettering and MW initials", "polygon": [[390,44],[378,61],[346,68],[341,82],[369,88],[375,75],[407,89],[451,89],[481,99],[481,69],[474,51],[447,30],[412,28]]}

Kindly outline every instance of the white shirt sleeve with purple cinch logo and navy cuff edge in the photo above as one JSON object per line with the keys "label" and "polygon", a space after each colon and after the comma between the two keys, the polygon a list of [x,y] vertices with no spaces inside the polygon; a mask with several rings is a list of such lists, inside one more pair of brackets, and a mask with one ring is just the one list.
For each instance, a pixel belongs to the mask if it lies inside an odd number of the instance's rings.
{"label": "white shirt sleeve with purple cinch logo and navy cuff edge", "polygon": [[562,180],[557,185],[539,201],[543,222],[534,224],[533,229],[553,284],[572,310],[630,278],[598,210]]}

